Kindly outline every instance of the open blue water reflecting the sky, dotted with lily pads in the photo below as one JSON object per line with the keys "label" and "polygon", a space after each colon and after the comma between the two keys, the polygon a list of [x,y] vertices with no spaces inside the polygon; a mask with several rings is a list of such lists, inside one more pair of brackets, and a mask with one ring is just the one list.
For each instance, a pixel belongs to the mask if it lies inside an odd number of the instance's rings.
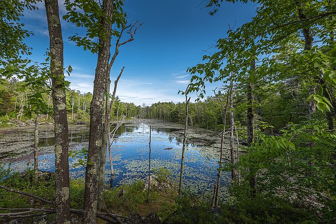
{"label": "open blue water reflecting the sky, dotted with lily pads", "polygon": [[[112,125],[111,130],[115,127]],[[71,128],[69,141],[74,149],[87,147],[89,132],[75,132]],[[47,135],[48,136],[48,135]],[[191,138],[192,139],[192,138]],[[163,167],[172,171],[174,180],[178,180],[182,152],[182,134],[172,129],[153,128],[151,139],[151,169]],[[120,184],[129,184],[140,179],[145,180],[148,169],[149,154],[149,124],[126,123],[116,131],[116,139],[112,145],[113,166],[115,178],[113,187]],[[39,146],[53,145],[54,138],[40,139]],[[169,150],[167,150],[169,148]],[[218,163],[214,156],[214,148],[211,146],[197,145],[192,140],[187,141],[185,155],[184,186],[191,192],[211,193],[217,175]],[[54,155],[52,153],[39,157],[39,169],[54,171]],[[69,158],[69,171],[71,178],[85,176],[85,168],[74,167],[76,159]],[[12,165],[17,171],[20,170],[18,163]],[[22,164],[21,164],[22,167]],[[107,152],[106,183],[110,181],[110,162]],[[223,174],[224,179],[229,175]],[[225,181],[226,182],[226,181]],[[225,183],[223,181],[223,183]]]}

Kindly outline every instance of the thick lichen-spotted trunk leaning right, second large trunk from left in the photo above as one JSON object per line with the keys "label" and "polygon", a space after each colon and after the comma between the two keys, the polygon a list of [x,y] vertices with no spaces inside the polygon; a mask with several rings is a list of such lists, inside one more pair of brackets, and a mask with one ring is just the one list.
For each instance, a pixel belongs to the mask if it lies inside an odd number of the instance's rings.
{"label": "thick lichen-spotted trunk leaning right, second large trunk from left", "polygon": [[96,223],[98,203],[98,171],[103,137],[104,94],[106,77],[109,69],[111,30],[113,15],[113,0],[103,1],[102,28],[104,37],[99,38],[98,62],[95,73],[93,98],[90,108],[90,136],[88,148],[88,163],[85,176],[85,193],[83,204],[83,224]]}

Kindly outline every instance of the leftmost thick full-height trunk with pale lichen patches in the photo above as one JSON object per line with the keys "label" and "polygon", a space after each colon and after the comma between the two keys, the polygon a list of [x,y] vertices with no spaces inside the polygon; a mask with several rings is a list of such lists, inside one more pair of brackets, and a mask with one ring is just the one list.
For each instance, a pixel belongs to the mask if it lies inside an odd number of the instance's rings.
{"label": "leftmost thick full-height trunk with pale lichen patches", "polygon": [[55,122],[56,223],[70,223],[68,123],[63,74],[63,39],[58,1],[45,0],[50,37],[50,70]]}

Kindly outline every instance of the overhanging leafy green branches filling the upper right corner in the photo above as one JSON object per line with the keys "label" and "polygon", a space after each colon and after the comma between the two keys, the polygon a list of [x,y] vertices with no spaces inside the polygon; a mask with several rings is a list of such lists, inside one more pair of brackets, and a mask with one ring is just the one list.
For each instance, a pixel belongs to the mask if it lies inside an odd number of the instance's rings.
{"label": "overhanging leafy green branches filling the upper right corner", "polygon": [[[209,1],[215,13],[220,2]],[[236,1],[226,1],[236,2]],[[247,3],[248,1],[240,1]],[[203,63],[188,69],[194,76],[190,92],[199,92],[204,98],[207,82],[226,82],[231,72],[235,82],[244,86],[247,82],[264,86],[271,82],[306,82],[304,88],[314,85],[334,86],[334,11],[329,1],[250,1],[258,3],[256,16],[235,30],[228,37],[217,41],[218,51],[203,56]],[[293,15],[288,17],[288,15]],[[304,19],[303,19],[304,18]],[[302,29],[314,32],[319,44],[303,51]],[[257,69],[250,64],[257,60]],[[320,72],[322,76],[320,77]],[[325,82],[319,82],[323,79]],[[318,93],[319,94],[319,93]],[[330,100],[329,100],[330,101]],[[319,110],[327,108],[327,102],[318,102]]]}

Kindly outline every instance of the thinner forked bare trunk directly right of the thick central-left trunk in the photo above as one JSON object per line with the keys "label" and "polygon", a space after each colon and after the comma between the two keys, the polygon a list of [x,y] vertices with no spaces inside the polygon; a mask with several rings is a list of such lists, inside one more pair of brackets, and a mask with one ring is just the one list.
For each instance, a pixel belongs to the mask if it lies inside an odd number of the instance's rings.
{"label": "thinner forked bare trunk directly right of the thick central-left trunk", "polygon": [[[100,166],[99,166],[99,184],[98,184],[98,209],[105,208],[105,201],[104,201],[104,177],[105,177],[105,166],[106,166],[106,151],[109,145],[109,134],[110,134],[110,120],[111,120],[111,111],[113,108],[113,104],[115,101],[115,96],[117,92],[117,86],[119,79],[124,71],[125,66],[121,69],[119,76],[117,77],[116,81],[114,81],[114,89],[112,93],[112,100],[110,97],[106,97],[105,100],[105,120],[104,120],[104,129],[103,129],[103,139],[102,139],[102,148],[101,148],[101,155],[100,155]],[[110,93],[110,71],[108,71],[107,77],[107,86],[106,86],[106,93]],[[110,146],[110,145],[109,145]]]}

